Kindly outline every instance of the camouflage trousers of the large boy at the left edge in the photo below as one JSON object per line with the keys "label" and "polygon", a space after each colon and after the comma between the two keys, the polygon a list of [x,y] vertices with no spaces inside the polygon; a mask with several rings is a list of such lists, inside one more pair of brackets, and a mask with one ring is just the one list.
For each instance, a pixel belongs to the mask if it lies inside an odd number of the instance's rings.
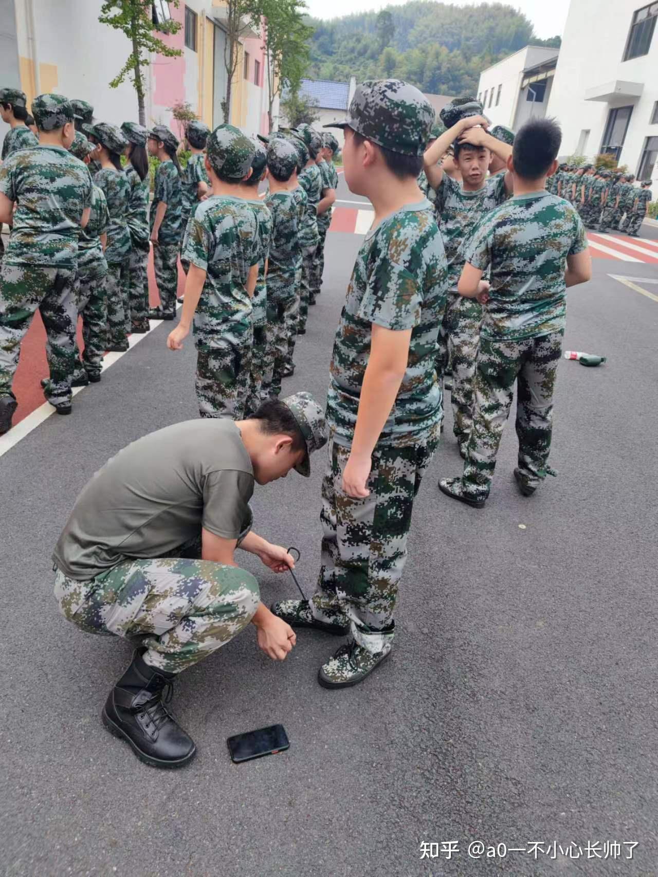
{"label": "camouflage trousers of the large boy at the left edge", "polygon": [[13,396],[11,383],[18,367],[20,345],[37,309],[46,328],[48,400],[55,404],[70,403],[77,352],[75,269],[8,265],[6,260],[0,275],[0,397]]}

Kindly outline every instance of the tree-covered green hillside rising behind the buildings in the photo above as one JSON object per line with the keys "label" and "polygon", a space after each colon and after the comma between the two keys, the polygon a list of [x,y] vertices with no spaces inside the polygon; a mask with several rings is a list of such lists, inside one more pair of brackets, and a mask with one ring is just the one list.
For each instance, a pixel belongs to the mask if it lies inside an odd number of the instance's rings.
{"label": "tree-covered green hillside rising behind the buildings", "polygon": [[532,22],[504,4],[416,0],[311,24],[311,78],[396,76],[432,94],[473,93],[483,68],[505,55],[531,42],[560,45],[559,37],[534,38]]}

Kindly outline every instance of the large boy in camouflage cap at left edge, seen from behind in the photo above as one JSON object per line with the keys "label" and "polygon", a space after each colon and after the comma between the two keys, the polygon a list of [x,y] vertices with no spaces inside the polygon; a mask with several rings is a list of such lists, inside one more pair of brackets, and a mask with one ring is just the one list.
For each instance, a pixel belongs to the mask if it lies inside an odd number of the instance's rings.
{"label": "large boy in camouflage cap at left edge, seen from behind", "polygon": [[75,269],[78,236],[91,209],[91,177],[68,152],[75,128],[66,97],[39,95],[32,114],[39,146],[18,150],[0,168],[0,223],[13,224],[0,274],[0,435],[10,429],[17,407],[11,383],[21,341],[37,308],[47,336],[46,397],[58,414],[71,413],[78,318]]}

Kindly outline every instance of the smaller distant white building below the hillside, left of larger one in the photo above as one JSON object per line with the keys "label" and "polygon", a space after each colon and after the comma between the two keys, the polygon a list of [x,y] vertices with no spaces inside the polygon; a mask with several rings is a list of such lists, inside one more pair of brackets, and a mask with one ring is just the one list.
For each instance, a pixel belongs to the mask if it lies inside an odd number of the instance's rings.
{"label": "smaller distant white building below the hillside, left of larger one", "polygon": [[529,118],[545,116],[559,49],[526,46],[480,74],[477,99],[494,125],[516,131]]}

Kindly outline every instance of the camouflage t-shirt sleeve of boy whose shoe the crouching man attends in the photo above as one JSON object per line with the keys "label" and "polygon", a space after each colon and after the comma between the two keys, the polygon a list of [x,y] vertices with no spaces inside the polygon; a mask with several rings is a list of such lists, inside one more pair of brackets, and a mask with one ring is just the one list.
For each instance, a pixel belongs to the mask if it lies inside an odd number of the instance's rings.
{"label": "camouflage t-shirt sleeve of boy whose shoe the crouching man attends", "polygon": [[[423,303],[424,264],[412,253],[413,226],[384,227],[371,250],[366,289],[356,316],[384,329],[403,332],[418,325]],[[413,266],[413,267],[411,267]]]}

